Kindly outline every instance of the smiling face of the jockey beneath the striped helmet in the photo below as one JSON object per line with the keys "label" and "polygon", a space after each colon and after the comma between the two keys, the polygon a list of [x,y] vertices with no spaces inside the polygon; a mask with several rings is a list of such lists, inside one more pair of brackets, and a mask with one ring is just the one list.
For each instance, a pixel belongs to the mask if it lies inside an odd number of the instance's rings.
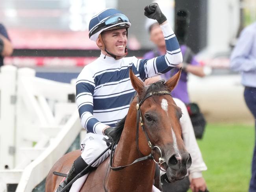
{"label": "smiling face of the jockey beneath the striped helmet", "polygon": [[[101,33],[102,39],[106,46],[106,50],[111,54],[122,56],[125,54],[125,47],[127,44],[126,29],[116,29],[111,31],[104,31]],[[102,50],[103,54],[107,54]]]}

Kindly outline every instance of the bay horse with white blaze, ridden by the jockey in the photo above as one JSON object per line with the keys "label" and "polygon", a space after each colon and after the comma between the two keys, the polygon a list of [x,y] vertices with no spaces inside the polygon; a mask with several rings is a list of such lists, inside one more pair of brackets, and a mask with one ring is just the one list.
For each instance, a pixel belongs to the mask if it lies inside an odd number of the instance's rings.
{"label": "bay horse with white blaze, ridden by the jockey", "polygon": [[[170,94],[180,73],[165,83],[158,81],[145,87],[130,69],[137,96],[117,126],[120,139],[115,153],[89,174],[80,192],[151,192],[156,163],[166,170],[169,181],[186,176],[191,157],[181,137],[182,111]],[[72,151],[54,164],[46,177],[46,192],[54,192],[63,179],[53,172],[67,173],[79,155],[80,151]],[[132,164],[141,157],[148,158]]]}

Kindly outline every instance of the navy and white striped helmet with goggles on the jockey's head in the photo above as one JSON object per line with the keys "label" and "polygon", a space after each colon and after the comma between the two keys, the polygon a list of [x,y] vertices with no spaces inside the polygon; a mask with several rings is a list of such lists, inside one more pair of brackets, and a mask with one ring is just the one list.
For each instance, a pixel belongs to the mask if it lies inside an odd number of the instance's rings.
{"label": "navy and white striped helmet with goggles on the jockey's head", "polygon": [[117,28],[129,28],[130,20],[121,11],[107,8],[91,18],[89,23],[89,38],[96,41],[102,31],[116,26]]}

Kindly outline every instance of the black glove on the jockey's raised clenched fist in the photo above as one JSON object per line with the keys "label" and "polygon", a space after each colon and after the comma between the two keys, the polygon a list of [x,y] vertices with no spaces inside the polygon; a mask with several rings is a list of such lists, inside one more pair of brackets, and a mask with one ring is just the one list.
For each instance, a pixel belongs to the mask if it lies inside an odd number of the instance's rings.
{"label": "black glove on the jockey's raised clenched fist", "polygon": [[149,6],[146,6],[144,10],[144,15],[146,17],[156,19],[159,24],[162,24],[167,20],[157,3],[152,3]]}

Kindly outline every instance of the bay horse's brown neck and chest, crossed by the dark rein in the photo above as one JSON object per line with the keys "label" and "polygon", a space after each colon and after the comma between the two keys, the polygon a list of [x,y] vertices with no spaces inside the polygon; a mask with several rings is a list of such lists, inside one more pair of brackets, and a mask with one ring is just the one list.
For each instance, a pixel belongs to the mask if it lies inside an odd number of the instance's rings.
{"label": "bay horse's brown neck and chest, crossed by the dark rein", "polygon": [[[131,164],[139,157],[141,154],[136,145],[136,110],[129,110],[122,136],[115,150],[113,167]],[[111,185],[109,191],[148,192],[152,189],[154,170],[155,164],[152,160],[141,161],[118,171],[111,170],[108,175],[108,187]],[[113,183],[117,185],[114,188]]]}

